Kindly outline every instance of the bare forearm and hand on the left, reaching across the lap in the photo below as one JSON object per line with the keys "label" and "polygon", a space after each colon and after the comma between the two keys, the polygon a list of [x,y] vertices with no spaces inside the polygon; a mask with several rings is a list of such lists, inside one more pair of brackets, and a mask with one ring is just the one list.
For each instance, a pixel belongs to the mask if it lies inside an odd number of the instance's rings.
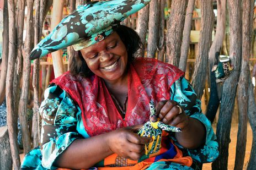
{"label": "bare forearm and hand on the left, reaching across the lap", "polygon": [[134,133],[140,127],[121,128],[92,138],[77,139],[57,157],[54,166],[87,169],[113,153],[138,160],[145,153],[145,144],[150,142],[150,138]]}

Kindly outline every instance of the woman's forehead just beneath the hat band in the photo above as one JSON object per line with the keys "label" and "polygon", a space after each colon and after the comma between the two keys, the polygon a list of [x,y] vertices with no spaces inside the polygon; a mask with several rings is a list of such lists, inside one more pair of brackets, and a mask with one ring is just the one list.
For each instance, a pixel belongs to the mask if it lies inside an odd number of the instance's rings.
{"label": "woman's forehead just beneath the hat band", "polygon": [[116,40],[120,40],[120,37],[116,32],[113,32],[113,34],[106,37],[104,40],[99,41],[89,47],[83,48],[82,51],[89,52],[89,51],[97,50],[98,48],[104,47],[104,46],[108,45],[108,43],[115,42]]}

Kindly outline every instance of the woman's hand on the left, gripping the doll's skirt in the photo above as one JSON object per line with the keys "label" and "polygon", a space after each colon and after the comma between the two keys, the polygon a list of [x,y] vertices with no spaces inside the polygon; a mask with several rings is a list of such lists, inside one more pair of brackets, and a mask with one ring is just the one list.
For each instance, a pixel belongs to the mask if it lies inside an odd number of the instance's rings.
{"label": "woman's hand on the left, gripping the doll's skirt", "polygon": [[139,160],[145,154],[145,144],[151,141],[151,138],[136,133],[141,127],[135,125],[111,131],[108,138],[110,150],[121,157]]}

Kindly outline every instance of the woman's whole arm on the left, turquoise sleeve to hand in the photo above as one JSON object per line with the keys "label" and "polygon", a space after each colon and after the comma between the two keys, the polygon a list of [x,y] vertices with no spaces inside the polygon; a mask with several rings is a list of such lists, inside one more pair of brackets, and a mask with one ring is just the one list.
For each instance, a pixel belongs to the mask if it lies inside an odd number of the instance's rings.
{"label": "woman's whole arm on the left, turquoise sleeve to hand", "polygon": [[[81,109],[59,86],[51,85],[45,91],[40,107],[42,117],[42,166],[85,169],[102,161],[112,153],[138,160],[143,145],[150,139],[141,138],[134,131],[141,127],[121,128],[110,133],[89,137],[78,133]],[[81,127],[84,130],[83,127]],[[79,130],[81,131],[81,130]]]}

